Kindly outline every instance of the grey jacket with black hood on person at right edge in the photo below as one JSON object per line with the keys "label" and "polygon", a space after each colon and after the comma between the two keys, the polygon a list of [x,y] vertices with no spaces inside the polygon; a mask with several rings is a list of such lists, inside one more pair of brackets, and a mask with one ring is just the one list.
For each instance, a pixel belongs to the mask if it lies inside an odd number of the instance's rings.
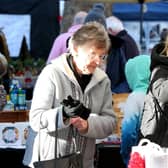
{"label": "grey jacket with black hood on person at right edge", "polygon": [[[163,44],[158,44],[153,48],[150,66],[150,88],[162,109],[164,109],[164,105],[168,103],[168,57],[160,54],[163,48]],[[140,127],[141,134],[145,137],[151,135],[156,126],[155,104],[151,90],[148,90],[145,98],[144,112]]]}

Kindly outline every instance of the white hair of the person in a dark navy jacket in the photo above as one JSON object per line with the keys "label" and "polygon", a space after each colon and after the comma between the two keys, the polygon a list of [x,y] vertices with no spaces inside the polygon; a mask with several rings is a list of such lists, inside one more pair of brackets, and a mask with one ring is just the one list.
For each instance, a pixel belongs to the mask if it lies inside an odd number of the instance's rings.
{"label": "white hair of the person in a dark navy jacket", "polygon": [[115,16],[110,16],[106,18],[107,29],[111,29],[115,34],[124,30],[123,23],[120,19]]}

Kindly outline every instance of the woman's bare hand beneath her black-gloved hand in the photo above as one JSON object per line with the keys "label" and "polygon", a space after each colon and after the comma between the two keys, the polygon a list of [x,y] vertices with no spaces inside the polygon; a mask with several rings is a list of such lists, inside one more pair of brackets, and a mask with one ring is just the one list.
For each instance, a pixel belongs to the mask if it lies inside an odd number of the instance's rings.
{"label": "woman's bare hand beneath her black-gloved hand", "polygon": [[70,123],[77,128],[81,134],[85,134],[88,131],[88,121],[80,117],[71,118]]}

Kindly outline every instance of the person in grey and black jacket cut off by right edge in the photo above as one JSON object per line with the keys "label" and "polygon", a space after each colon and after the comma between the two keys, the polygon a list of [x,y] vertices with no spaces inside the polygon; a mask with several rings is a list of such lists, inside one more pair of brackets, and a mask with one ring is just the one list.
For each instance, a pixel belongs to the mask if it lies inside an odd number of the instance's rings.
{"label": "person in grey and black jacket cut off by right edge", "polygon": [[151,78],[141,121],[141,138],[149,138],[161,147],[168,147],[168,33],[151,52]]}

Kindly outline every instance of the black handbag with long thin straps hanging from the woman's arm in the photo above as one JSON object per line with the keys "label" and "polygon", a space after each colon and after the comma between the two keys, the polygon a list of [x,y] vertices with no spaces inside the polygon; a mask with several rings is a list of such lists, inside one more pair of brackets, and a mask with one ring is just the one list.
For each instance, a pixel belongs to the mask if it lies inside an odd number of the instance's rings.
{"label": "black handbag with long thin straps hanging from the woman's arm", "polygon": [[[83,168],[82,154],[79,151],[57,157],[57,137],[58,137],[58,115],[56,115],[56,131],[55,131],[55,158],[50,160],[40,160],[40,151],[38,153],[38,161],[34,162],[34,168]],[[71,127],[70,129],[73,128]],[[40,132],[39,132],[40,134]],[[40,140],[39,140],[40,141]],[[40,148],[40,142],[39,142]]]}

